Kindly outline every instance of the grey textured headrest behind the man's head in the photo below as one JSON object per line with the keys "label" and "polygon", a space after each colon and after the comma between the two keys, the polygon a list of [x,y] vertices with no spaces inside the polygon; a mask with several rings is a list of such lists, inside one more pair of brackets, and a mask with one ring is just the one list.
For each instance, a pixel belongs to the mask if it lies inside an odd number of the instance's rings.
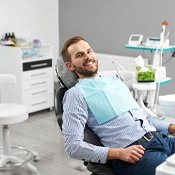
{"label": "grey textured headrest behind the man's head", "polygon": [[66,67],[65,62],[61,59],[57,60],[57,64],[55,65],[55,72],[60,83],[68,89],[75,86],[77,83],[77,74],[69,70]]}

